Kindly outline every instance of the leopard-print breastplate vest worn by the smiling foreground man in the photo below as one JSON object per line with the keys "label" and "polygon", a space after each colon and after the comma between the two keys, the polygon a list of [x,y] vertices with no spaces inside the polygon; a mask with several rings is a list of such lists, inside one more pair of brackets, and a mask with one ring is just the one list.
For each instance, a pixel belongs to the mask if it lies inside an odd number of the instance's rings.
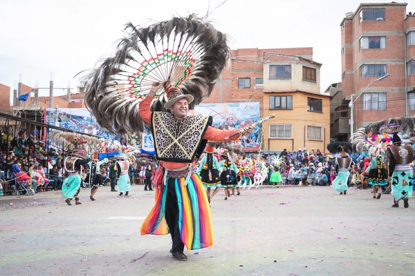
{"label": "leopard-print breastplate vest worn by the smiling foreground man", "polygon": [[157,159],[191,163],[203,152],[208,141],[202,138],[211,124],[210,116],[187,116],[178,120],[169,112],[153,112],[151,130]]}

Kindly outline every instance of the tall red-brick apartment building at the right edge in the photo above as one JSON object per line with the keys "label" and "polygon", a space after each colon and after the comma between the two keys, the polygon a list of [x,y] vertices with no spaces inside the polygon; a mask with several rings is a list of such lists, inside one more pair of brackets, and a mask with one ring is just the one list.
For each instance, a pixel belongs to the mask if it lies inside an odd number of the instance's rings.
{"label": "tall red-brick apartment building at the right edge", "polygon": [[[344,106],[353,95],[355,129],[372,121],[415,114],[415,17],[407,14],[406,6],[361,3],[340,23],[342,101],[335,101]],[[382,81],[374,81],[388,74]],[[333,137],[342,135],[333,133]]]}

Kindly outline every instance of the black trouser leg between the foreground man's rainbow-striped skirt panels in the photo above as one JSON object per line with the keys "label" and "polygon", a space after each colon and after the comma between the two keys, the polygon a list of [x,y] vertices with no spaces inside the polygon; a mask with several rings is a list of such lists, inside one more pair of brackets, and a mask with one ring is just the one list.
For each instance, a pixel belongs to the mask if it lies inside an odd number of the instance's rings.
{"label": "black trouser leg between the foreground man's rainbow-striped skirt panels", "polygon": [[174,186],[175,178],[169,178],[167,182],[167,197],[165,218],[169,226],[170,235],[172,235],[173,253],[183,253],[185,244],[181,241],[180,230],[178,230],[178,204],[176,197],[176,188]]}

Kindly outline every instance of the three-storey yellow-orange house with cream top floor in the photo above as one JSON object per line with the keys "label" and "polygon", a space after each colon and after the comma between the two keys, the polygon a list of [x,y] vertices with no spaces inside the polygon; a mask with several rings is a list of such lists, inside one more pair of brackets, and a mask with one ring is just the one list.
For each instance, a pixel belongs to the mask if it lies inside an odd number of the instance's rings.
{"label": "three-storey yellow-orange house with cream top floor", "polygon": [[288,55],[264,59],[264,149],[306,148],[326,152],[330,143],[330,97],[320,93],[321,63]]}

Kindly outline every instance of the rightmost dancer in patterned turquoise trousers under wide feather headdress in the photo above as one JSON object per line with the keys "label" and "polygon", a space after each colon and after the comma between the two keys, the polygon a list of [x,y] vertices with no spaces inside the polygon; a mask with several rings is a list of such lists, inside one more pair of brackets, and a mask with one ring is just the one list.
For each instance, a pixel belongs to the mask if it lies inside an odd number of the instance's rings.
{"label": "rightmost dancer in patterned turquoise trousers under wide feather headdress", "polygon": [[379,121],[367,126],[367,130],[382,130],[393,136],[394,146],[387,149],[389,155],[389,177],[392,180],[392,195],[394,195],[394,208],[399,207],[400,199],[404,201],[404,207],[409,207],[408,199],[412,197],[412,169],[409,164],[414,160],[414,149],[410,145],[403,146],[398,136],[402,130],[414,129],[414,119],[412,117],[392,118]]}

